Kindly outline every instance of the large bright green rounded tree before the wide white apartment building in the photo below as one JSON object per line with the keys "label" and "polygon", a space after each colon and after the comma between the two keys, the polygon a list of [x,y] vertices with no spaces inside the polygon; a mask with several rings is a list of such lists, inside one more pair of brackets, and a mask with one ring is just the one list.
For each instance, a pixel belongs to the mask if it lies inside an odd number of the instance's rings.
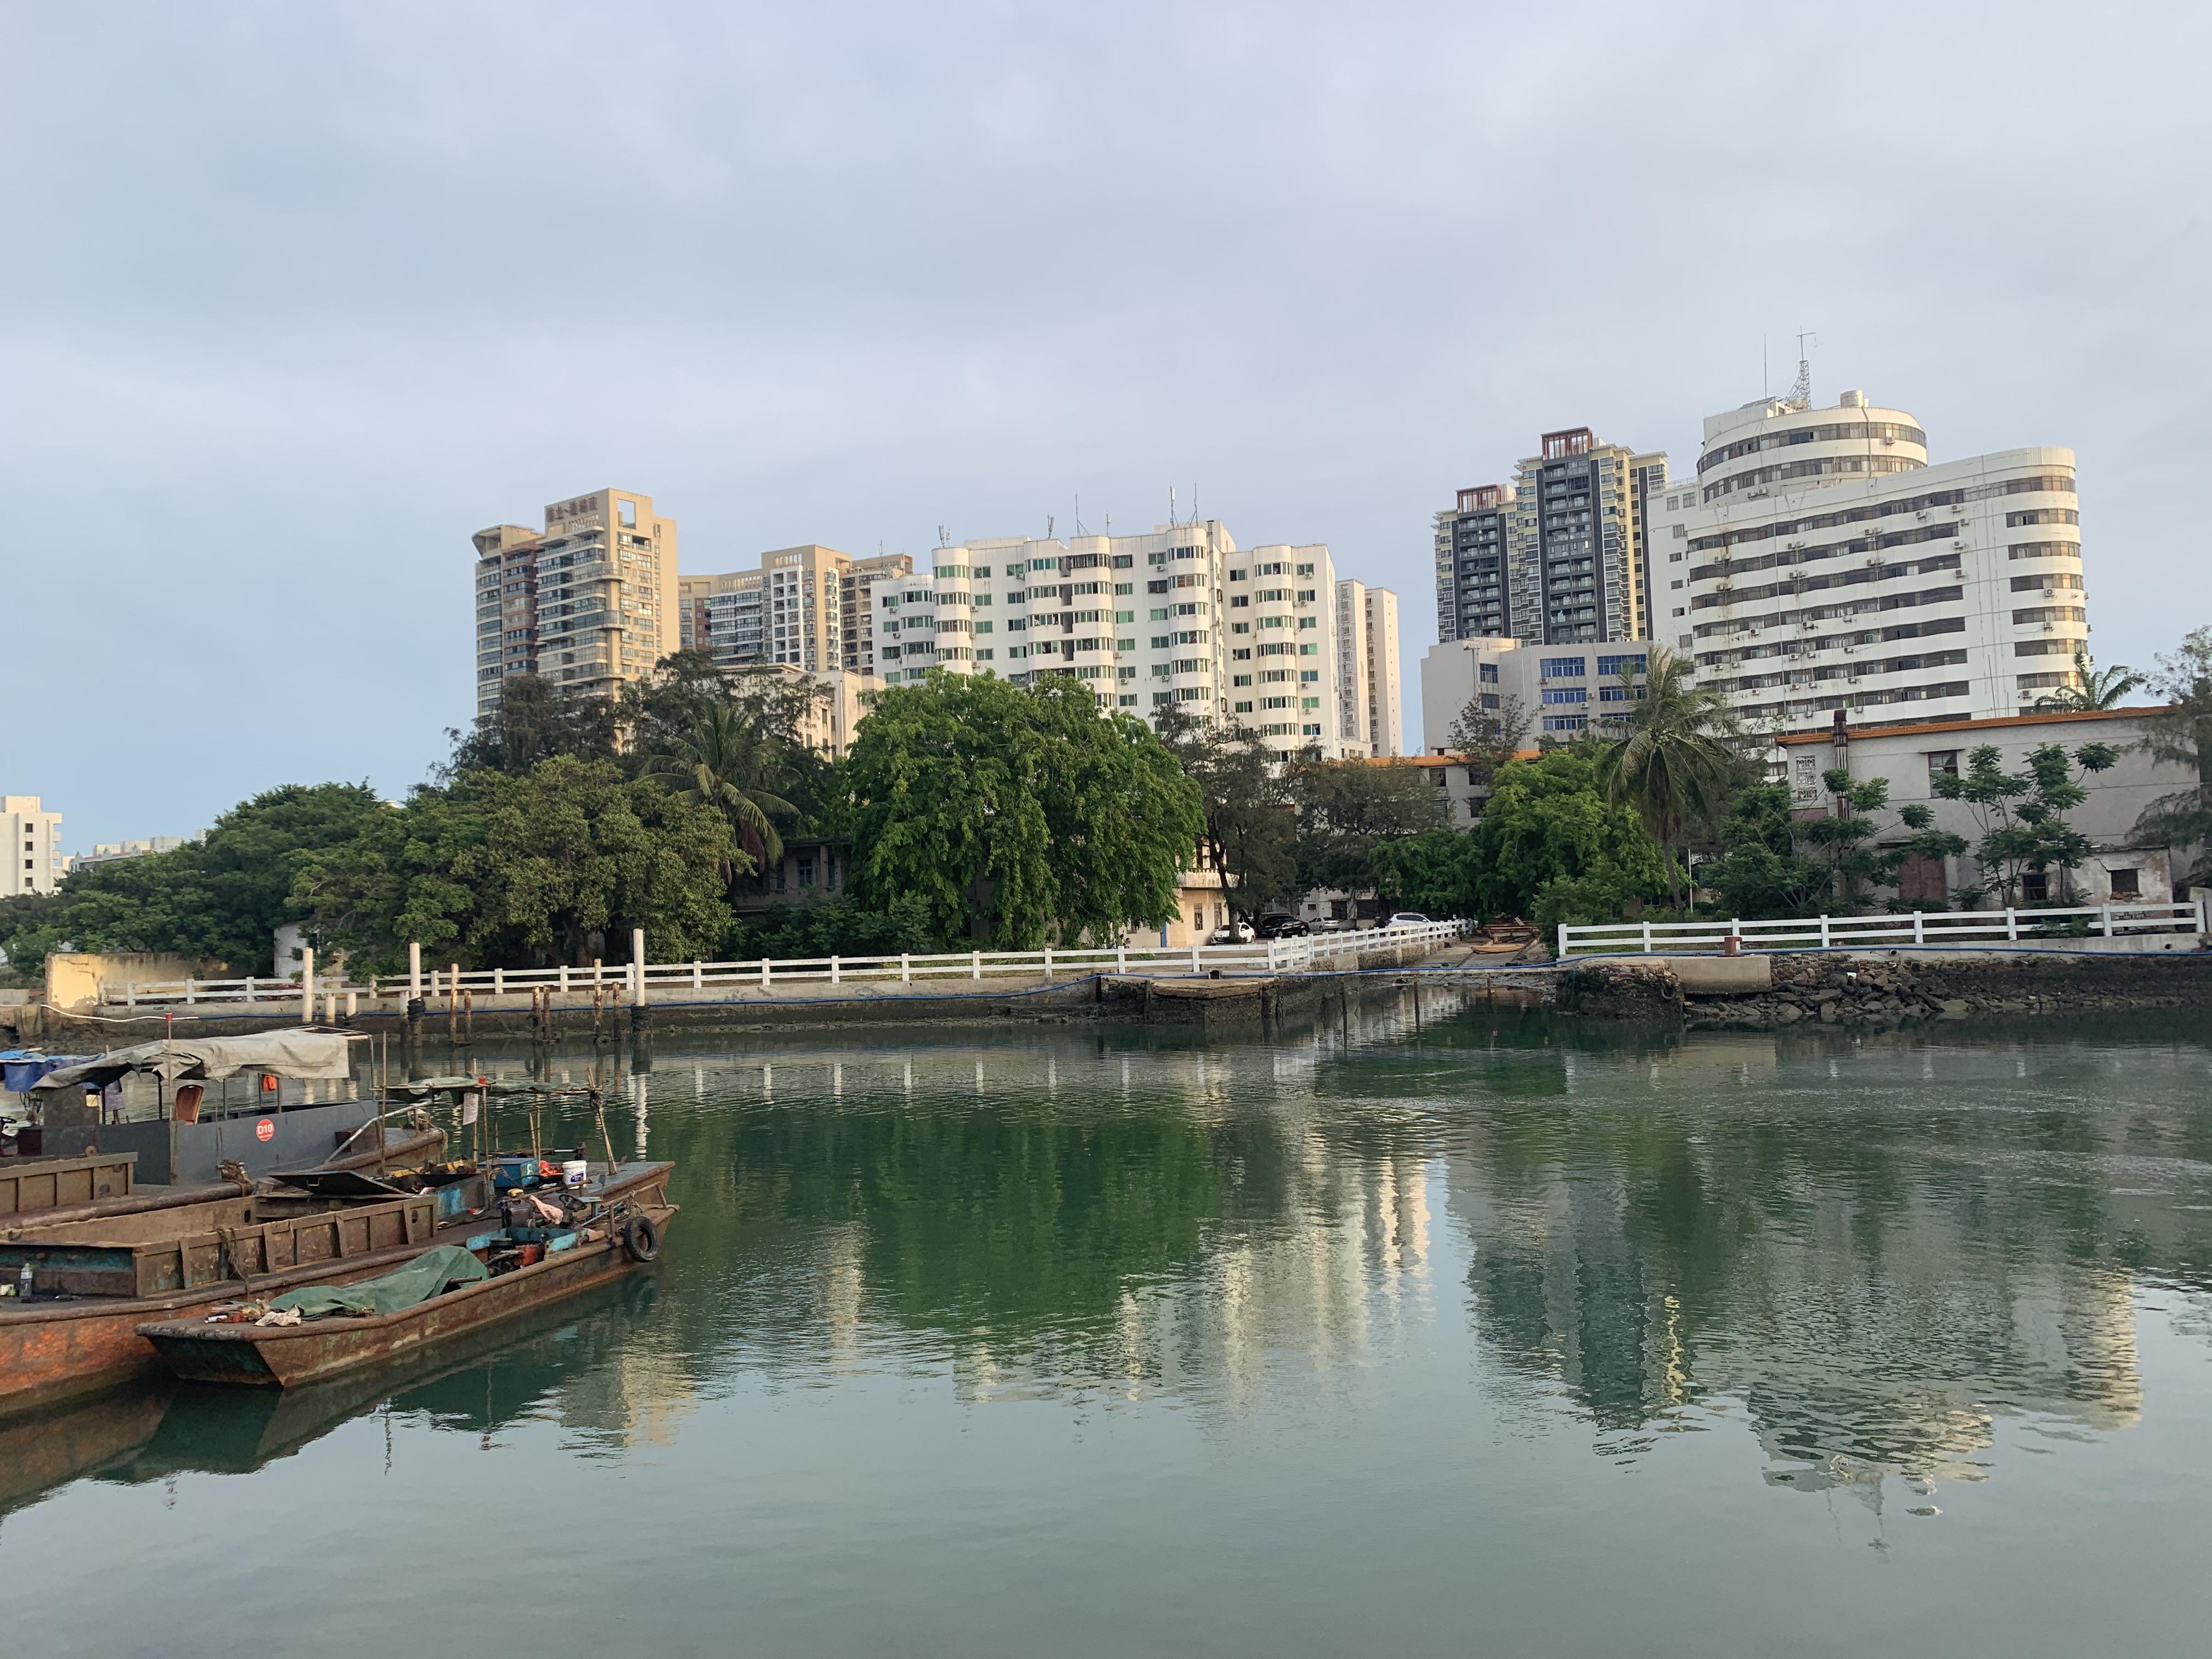
{"label": "large bright green rounded tree before the wide white apartment building", "polygon": [[1166,925],[1206,834],[1199,785],[1144,721],[1057,675],[894,686],[841,776],[854,898],[1000,949]]}

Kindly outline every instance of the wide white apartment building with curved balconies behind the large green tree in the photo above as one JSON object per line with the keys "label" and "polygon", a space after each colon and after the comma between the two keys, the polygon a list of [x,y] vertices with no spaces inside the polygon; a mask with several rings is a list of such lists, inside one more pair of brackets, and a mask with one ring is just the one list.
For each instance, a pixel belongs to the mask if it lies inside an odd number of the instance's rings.
{"label": "wide white apartment building with curved balconies behind the large green tree", "polygon": [[[931,668],[1031,684],[1068,675],[1099,701],[1150,717],[1186,708],[1237,721],[1281,752],[1345,737],[1329,549],[1239,551],[1219,520],[1148,535],[989,540],[940,546],[936,568],[878,584],[885,684]],[[1396,659],[1389,664],[1396,703]]]}

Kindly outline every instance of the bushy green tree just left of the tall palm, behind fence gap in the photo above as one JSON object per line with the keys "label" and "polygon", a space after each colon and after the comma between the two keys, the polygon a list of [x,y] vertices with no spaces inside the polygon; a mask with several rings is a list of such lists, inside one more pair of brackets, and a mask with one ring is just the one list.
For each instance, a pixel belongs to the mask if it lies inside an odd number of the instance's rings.
{"label": "bushy green tree just left of the tall palm, behind fence gap", "polygon": [[1577,907],[1617,900],[1619,916],[1619,907],[1670,889],[1666,854],[1630,807],[1608,799],[1590,743],[1498,768],[1498,787],[1467,841],[1480,916],[1542,914],[1540,898],[1553,887]]}

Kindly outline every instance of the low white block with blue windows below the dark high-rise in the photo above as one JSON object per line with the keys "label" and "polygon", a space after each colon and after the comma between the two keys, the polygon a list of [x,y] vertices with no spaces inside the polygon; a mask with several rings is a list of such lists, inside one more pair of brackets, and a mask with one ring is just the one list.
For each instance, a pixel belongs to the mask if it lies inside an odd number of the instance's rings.
{"label": "low white block with blue windows below the dark high-rise", "polygon": [[[1520,708],[1520,745],[1573,741],[1593,721],[1626,714],[1644,697],[1648,639],[1606,646],[1533,646],[1524,639],[1440,639],[1420,659],[1420,745],[1451,754],[1451,728],[1469,703],[1504,714]],[[1626,679],[1624,679],[1626,675]]]}

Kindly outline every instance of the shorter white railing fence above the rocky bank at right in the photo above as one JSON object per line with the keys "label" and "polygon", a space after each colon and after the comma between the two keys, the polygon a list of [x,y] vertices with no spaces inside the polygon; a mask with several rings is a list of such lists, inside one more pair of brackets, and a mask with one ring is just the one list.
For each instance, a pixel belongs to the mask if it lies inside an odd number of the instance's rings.
{"label": "shorter white railing fence above the rocky bank at right", "polygon": [[2179,905],[2086,905],[2079,909],[1911,911],[1909,916],[1809,916],[1783,922],[1595,922],[1559,925],[1559,960],[1597,953],[1721,951],[1730,936],[1745,951],[1880,949],[1902,945],[1973,947],[2004,940],[2099,938],[2121,933],[2203,933],[2205,900]]}

